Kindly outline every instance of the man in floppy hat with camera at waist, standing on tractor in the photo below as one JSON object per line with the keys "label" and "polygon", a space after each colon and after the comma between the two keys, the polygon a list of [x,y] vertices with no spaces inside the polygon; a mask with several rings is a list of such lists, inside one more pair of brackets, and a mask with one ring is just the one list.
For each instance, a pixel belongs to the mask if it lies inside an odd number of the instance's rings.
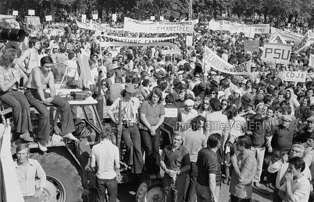
{"label": "man in floppy hat with camera at waist, standing on tractor", "polygon": [[125,163],[132,168],[133,173],[141,173],[143,156],[140,147],[140,135],[136,125],[139,107],[139,100],[134,97],[136,92],[134,84],[126,84],[122,97],[112,103],[107,113],[110,119],[118,125],[118,114],[114,114],[114,111],[119,111],[119,101],[121,101],[122,136],[126,144]]}

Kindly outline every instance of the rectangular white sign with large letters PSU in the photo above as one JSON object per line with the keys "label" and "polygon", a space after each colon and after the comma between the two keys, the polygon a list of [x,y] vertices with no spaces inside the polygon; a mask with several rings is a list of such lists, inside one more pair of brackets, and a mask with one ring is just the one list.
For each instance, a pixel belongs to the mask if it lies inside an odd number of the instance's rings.
{"label": "rectangular white sign with large letters PSU", "polygon": [[291,49],[289,44],[264,43],[262,61],[289,65]]}

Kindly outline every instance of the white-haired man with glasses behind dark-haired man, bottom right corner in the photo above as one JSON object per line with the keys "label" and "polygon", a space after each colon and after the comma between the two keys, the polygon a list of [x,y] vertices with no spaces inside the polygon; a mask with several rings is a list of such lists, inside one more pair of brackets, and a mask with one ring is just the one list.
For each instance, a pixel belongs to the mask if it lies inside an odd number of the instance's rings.
{"label": "white-haired man with glasses behind dark-haired man, bottom right corner", "polygon": [[[289,162],[288,162],[289,159],[292,159],[294,157],[302,158],[303,152],[304,152],[304,146],[302,146],[300,144],[293,144],[291,147],[290,156],[285,154],[282,156],[281,159],[279,159],[275,163],[269,165],[268,171],[270,173],[278,172],[277,177],[276,177],[275,189],[273,191],[273,202],[282,202],[282,200],[278,196],[278,191],[279,191],[280,187],[285,182],[284,175],[286,174],[287,170],[289,170]],[[308,166],[306,166],[306,168],[303,170],[302,173],[306,176],[307,179],[312,178],[311,177],[311,171],[310,171],[310,168]]]}

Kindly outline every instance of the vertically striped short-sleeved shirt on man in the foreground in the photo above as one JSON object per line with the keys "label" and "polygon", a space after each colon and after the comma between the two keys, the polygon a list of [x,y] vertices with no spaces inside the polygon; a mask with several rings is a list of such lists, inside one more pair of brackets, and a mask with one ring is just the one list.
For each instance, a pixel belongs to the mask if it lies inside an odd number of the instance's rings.
{"label": "vertically striped short-sleeved shirt on man in the foreground", "polygon": [[240,199],[251,199],[253,191],[252,183],[256,171],[254,152],[251,150],[244,155],[240,153],[237,160],[241,176],[245,179],[243,182],[239,182],[233,170],[229,192]]}

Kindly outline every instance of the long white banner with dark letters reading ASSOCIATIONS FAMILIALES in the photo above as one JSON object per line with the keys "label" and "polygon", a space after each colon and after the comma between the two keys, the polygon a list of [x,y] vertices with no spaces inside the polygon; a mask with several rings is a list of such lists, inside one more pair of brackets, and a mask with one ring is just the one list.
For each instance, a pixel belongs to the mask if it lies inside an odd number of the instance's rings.
{"label": "long white banner with dark letters reading ASSOCIATIONS FAMILIALES", "polygon": [[177,36],[158,38],[129,38],[122,36],[100,35],[100,47],[107,46],[169,46],[176,48]]}

